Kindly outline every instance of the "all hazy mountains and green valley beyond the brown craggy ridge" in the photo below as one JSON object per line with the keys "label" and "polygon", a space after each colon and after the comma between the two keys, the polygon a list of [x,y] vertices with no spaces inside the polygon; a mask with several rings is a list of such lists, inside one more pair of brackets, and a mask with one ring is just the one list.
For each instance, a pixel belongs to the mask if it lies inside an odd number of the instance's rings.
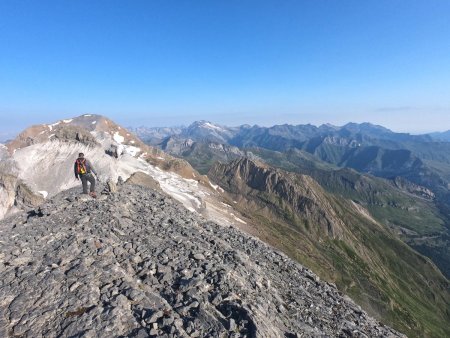
{"label": "all hazy mountains and green valley beyond the brown craggy ridge", "polygon": [[[450,132],[411,135],[370,123],[227,127],[208,121],[173,133],[166,129],[164,135],[144,129],[146,134],[138,135],[146,142],[187,160],[200,173],[208,173],[217,161],[248,157],[310,175],[330,192],[367,206],[450,277],[450,142],[446,141]],[[357,182],[368,181],[371,197],[354,188]],[[428,216],[412,217],[419,209],[409,205],[413,203],[409,197],[405,200],[403,194],[392,192],[394,187],[429,200],[430,206],[419,208],[429,210]],[[391,199],[381,198],[378,190]]]}

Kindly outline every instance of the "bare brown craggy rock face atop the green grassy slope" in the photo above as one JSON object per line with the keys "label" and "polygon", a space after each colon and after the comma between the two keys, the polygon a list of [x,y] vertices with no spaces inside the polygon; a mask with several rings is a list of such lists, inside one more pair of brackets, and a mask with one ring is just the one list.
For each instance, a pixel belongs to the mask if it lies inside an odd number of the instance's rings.
{"label": "bare brown craggy rock face atop the green grassy slope", "polygon": [[[263,207],[277,212],[287,205],[304,220],[319,227],[325,236],[339,239],[344,224],[339,219],[323,189],[311,177],[270,168],[247,158],[226,165],[217,163],[208,173],[224,189],[242,196],[260,197]],[[269,199],[273,203],[267,204]]]}

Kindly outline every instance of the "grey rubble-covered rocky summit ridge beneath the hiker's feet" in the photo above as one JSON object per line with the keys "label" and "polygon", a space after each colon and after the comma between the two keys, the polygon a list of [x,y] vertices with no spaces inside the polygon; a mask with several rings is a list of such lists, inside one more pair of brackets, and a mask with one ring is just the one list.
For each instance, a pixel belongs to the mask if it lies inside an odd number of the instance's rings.
{"label": "grey rubble-covered rocky summit ridge beneath the hiker's feet", "polygon": [[1,337],[400,336],[233,227],[135,185],[0,223]]}

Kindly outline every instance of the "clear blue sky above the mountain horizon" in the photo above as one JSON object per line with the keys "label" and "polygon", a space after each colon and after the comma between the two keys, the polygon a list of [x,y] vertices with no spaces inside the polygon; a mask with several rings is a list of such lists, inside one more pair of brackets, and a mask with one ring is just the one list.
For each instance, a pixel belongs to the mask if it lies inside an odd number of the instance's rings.
{"label": "clear blue sky above the mountain horizon", "polygon": [[450,129],[450,1],[0,1],[0,132],[369,121]]}

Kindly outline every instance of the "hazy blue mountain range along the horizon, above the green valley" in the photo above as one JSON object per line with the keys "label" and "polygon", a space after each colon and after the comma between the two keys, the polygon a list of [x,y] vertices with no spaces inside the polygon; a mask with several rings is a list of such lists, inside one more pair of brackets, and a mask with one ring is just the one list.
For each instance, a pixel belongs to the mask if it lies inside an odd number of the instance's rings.
{"label": "hazy blue mountain range along the horizon, above the green valley", "polygon": [[160,130],[140,128],[135,132],[144,142],[187,159],[193,158],[189,155],[192,152],[198,153],[195,150],[199,144],[208,144],[213,157],[205,159],[209,163],[196,163],[205,173],[215,157],[222,160],[224,156],[242,156],[253,148],[277,152],[296,149],[337,167],[389,179],[401,176],[437,190],[443,198],[450,183],[450,142],[443,141],[449,133],[440,136],[395,133],[370,123],[349,123],[342,127],[329,124],[226,127],[207,121],[184,128],[165,128],[164,133]]}

